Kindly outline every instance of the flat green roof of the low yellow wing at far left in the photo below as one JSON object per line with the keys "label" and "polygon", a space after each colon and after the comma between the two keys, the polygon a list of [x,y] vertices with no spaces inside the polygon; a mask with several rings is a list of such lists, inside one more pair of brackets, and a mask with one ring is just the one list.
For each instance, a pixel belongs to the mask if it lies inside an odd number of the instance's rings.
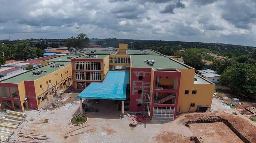
{"label": "flat green roof of the low yellow wing at far left", "polygon": [[[64,66],[62,67],[58,67],[58,68],[50,68],[50,65],[55,65],[55,64],[64,64]],[[46,65],[46,66],[43,66],[43,67],[40,67],[40,68],[36,68],[34,70],[31,70],[29,72],[25,72],[25,73],[22,73],[20,75],[17,75],[15,77],[12,77],[12,78],[9,78],[5,81],[1,81],[1,82],[5,82],[5,83],[19,83],[21,81],[35,81],[45,75],[48,75],[49,73],[52,73],[52,72],[55,72],[57,71],[58,69],[60,68],[63,68],[67,65],[70,65],[71,62],[54,62],[50,65]],[[36,71],[47,71],[46,73],[42,73],[41,75],[33,75],[32,72],[36,72]]]}

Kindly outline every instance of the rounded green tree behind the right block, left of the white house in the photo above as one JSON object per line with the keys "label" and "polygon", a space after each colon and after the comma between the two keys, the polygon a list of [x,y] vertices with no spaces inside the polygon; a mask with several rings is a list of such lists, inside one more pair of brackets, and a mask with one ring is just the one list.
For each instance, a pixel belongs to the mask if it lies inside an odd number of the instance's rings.
{"label": "rounded green tree behind the right block, left of the white house", "polygon": [[196,49],[187,49],[182,55],[186,65],[189,65],[196,70],[203,68],[204,63],[202,62],[202,54]]}

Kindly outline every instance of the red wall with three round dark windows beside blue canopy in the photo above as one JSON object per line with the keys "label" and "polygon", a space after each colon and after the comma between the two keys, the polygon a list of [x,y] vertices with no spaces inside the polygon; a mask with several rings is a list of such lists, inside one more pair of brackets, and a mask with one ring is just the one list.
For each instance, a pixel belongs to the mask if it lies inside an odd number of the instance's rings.
{"label": "red wall with three round dark windows beside blue canopy", "polygon": [[[143,79],[139,80],[139,76]],[[150,92],[151,68],[131,68],[130,111],[141,112],[143,106],[143,93]],[[141,90],[142,94],[138,91]],[[138,104],[142,106],[138,106]]]}

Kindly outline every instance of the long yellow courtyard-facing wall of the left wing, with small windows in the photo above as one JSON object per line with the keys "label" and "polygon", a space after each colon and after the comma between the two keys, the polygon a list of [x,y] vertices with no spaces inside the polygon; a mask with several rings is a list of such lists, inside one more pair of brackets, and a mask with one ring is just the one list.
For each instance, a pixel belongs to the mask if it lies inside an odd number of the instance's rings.
{"label": "long yellow courtyard-facing wall of the left wing, with small windows", "polygon": [[[65,74],[65,72],[67,72],[67,74]],[[56,75],[57,74],[57,75]],[[62,74],[62,77],[61,77]],[[37,100],[37,104],[40,107],[42,107],[43,105],[45,105],[46,103],[49,102],[49,100],[54,97],[54,94],[52,92],[52,94],[50,94],[50,91],[52,91],[52,88],[56,89],[56,94],[60,93],[60,91],[64,91],[67,89],[67,86],[69,85],[68,83],[68,78],[71,78],[72,76],[72,69],[71,69],[71,64],[63,67],[55,72],[49,73],[48,75],[43,76],[42,78],[39,78],[37,80],[34,81],[34,85],[35,85],[35,91],[36,91],[36,100]],[[51,83],[49,82],[49,80],[51,80]],[[65,80],[67,80],[66,85],[62,84],[60,85],[60,83],[64,83]],[[46,82],[48,81],[48,86],[49,86],[49,90],[47,87]],[[57,81],[57,84],[56,84]],[[72,82],[72,79],[71,81]],[[40,88],[40,85],[42,85],[42,89]],[[45,93],[48,92],[48,98],[44,99],[44,101],[42,101],[42,97],[45,95]],[[38,97],[41,97],[41,100],[38,101]]]}

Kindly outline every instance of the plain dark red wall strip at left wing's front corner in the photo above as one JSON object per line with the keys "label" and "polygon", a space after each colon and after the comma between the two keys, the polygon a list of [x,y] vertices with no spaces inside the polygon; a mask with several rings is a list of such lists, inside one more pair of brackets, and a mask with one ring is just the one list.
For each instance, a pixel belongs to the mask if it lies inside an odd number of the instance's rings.
{"label": "plain dark red wall strip at left wing's front corner", "polygon": [[29,108],[39,109],[36,101],[36,91],[35,91],[34,81],[24,81],[24,82],[25,82],[25,89],[26,89],[26,94],[28,98]]}

